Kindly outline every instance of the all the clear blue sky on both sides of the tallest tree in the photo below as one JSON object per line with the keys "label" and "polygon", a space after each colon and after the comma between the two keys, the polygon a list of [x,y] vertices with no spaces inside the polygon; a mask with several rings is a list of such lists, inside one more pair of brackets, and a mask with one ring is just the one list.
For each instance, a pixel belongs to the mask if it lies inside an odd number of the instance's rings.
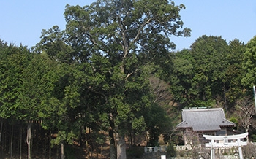
{"label": "all the clear blue sky on both sides of the tallest tree", "polygon": [[[64,9],[66,4],[88,5],[96,0],[1,0],[0,38],[8,43],[22,43],[32,47],[40,40],[42,29],[58,25],[65,27]],[[255,0],[175,0],[184,4],[181,20],[184,27],[192,29],[189,38],[171,37],[177,45],[176,50],[189,48],[202,36],[222,36],[227,42],[239,39],[247,43],[256,36]]]}

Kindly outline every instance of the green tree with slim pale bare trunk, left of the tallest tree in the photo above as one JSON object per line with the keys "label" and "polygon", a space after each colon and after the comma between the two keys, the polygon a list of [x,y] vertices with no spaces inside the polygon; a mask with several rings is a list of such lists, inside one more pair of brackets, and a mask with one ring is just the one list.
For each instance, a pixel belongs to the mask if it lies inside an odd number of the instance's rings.
{"label": "green tree with slim pale bare trunk, left of the tallest tree", "polygon": [[44,122],[49,117],[56,97],[54,88],[59,76],[56,74],[56,61],[50,61],[46,54],[32,54],[23,65],[18,98],[14,103],[16,117],[27,123],[28,158],[31,158],[32,125]]}

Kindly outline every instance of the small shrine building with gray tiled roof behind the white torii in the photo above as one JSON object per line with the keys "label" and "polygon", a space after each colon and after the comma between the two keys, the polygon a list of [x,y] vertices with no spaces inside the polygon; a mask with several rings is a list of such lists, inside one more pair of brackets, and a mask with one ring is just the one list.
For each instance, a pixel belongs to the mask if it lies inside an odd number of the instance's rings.
{"label": "small shrine building with gray tiled roof behind the white torii", "polygon": [[226,119],[222,108],[183,109],[182,122],[176,128],[184,131],[184,144],[205,144],[203,134],[211,136],[227,136],[228,131],[236,124]]}

